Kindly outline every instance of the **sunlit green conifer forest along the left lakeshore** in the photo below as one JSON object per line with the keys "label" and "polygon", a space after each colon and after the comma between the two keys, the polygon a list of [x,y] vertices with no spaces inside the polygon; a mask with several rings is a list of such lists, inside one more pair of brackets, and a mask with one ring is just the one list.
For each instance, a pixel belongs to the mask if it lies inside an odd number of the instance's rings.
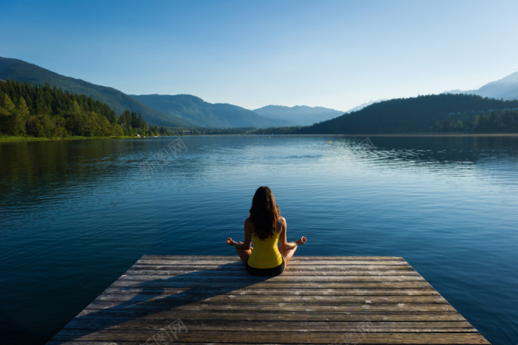
{"label": "sunlit green conifer forest along the left lakeshore", "polygon": [[92,96],[49,84],[0,82],[0,134],[33,137],[122,136],[149,133],[141,114],[121,116]]}

